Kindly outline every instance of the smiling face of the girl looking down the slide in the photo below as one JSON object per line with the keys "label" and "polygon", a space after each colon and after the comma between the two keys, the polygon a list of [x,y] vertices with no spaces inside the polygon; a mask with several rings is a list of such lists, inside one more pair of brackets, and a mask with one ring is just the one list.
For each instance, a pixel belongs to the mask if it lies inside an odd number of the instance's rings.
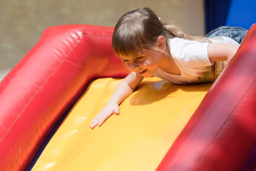
{"label": "smiling face of the girl looking down the slide", "polygon": [[128,70],[139,72],[143,77],[151,77],[160,63],[160,52],[156,50],[144,50],[134,56],[120,56]]}

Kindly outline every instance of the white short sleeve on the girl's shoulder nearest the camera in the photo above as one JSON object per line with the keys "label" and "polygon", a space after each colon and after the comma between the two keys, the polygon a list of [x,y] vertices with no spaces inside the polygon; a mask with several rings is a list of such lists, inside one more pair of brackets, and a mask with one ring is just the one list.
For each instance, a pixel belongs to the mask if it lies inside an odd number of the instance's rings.
{"label": "white short sleeve on the girl's shoulder nearest the camera", "polygon": [[170,44],[172,57],[187,67],[206,67],[213,62],[208,57],[208,43],[177,38]]}

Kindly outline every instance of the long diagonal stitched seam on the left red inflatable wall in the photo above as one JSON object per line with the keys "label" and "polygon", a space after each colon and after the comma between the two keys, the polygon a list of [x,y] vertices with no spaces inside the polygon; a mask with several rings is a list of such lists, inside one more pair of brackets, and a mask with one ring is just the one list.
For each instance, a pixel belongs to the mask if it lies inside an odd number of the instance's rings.
{"label": "long diagonal stitched seam on the left red inflatable wall", "polygon": [[[73,48],[70,50],[70,52],[72,52],[72,50],[76,47],[77,43],[81,40],[81,38],[84,36],[85,34],[82,34],[81,37],[79,38],[79,40],[76,42],[76,44],[73,46]],[[10,126],[10,128],[6,131],[6,133],[4,134],[3,138],[0,140],[0,143],[3,141],[4,137],[6,136],[6,134],[9,132],[9,130],[12,128],[12,126],[15,124],[15,122],[17,121],[17,119],[20,117],[20,115],[23,113],[23,111],[26,109],[26,107],[29,105],[30,101],[32,101],[32,99],[35,97],[35,95],[38,93],[38,91],[44,86],[44,84],[48,81],[48,79],[51,77],[51,75],[58,69],[58,67],[63,63],[63,61],[67,58],[67,56],[70,54],[70,52],[67,53],[67,55],[65,56],[65,58],[58,64],[58,66],[55,68],[55,70],[52,71],[52,73],[48,76],[48,78],[44,81],[44,83],[38,88],[38,90],[35,92],[35,94],[32,96],[32,98],[29,100],[29,102],[26,104],[26,106],[23,108],[23,110],[21,110],[20,114],[17,116],[17,118],[15,119],[15,121],[12,123],[12,125]]]}

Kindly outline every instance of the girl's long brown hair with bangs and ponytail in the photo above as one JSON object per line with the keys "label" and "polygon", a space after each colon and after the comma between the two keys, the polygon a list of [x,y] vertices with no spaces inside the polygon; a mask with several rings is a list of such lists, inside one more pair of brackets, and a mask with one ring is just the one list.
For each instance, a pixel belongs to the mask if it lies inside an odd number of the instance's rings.
{"label": "girl's long brown hair with bangs and ponytail", "polygon": [[[159,36],[165,38],[166,44],[169,38],[212,43],[204,37],[187,35],[173,24],[162,23],[151,9],[143,8],[127,12],[118,20],[113,31],[112,48],[118,56],[137,55],[137,52],[143,49],[159,50],[156,48]],[[166,46],[166,50],[168,55],[171,55],[169,46]],[[216,79],[216,67],[214,62],[210,69],[211,81]]]}

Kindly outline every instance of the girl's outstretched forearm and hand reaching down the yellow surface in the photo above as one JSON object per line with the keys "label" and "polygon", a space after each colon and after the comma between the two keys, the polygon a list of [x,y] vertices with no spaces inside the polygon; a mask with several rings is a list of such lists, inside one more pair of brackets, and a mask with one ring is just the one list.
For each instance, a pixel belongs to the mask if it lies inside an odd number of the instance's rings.
{"label": "girl's outstretched forearm and hand reaching down the yellow surface", "polygon": [[105,120],[113,113],[119,114],[119,104],[126,99],[143,80],[143,76],[137,72],[131,72],[124,80],[122,80],[116,87],[108,104],[99,112],[99,114],[92,120],[90,128],[97,125],[101,126]]}

